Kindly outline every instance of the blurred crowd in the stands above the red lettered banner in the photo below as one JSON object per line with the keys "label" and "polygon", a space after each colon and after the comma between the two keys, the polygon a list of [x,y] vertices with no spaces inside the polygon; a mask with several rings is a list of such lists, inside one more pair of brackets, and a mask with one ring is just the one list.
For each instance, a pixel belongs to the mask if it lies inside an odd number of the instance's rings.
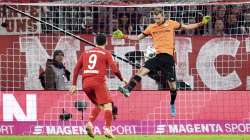
{"label": "blurred crowd in the stands above the red lettered banner", "polygon": [[[181,23],[201,21],[211,15],[212,22],[192,31],[177,31],[180,35],[246,35],[250,34],[250,4],[165,6],[165,17]],[[153,21],[151,10],[145,7],[82,7],[46,6],[42,20],[75,34],[105,32],[120,29],[126,34],[139,34]],[[45,33],[56,32],[42,24]]]}

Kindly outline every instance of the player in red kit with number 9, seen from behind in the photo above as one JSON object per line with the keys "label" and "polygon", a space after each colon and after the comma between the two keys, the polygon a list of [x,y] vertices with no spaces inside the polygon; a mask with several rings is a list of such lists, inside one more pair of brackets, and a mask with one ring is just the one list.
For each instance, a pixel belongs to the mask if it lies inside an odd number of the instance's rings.
{"label": "player in red kit with number 9, seen from behind", "polygon": [[83,80],[83,91],[86,93],[95,108],[91,111],[86,130],[90,137],[94,137],[93,122],[101,110],[104,110],[105,130],[104,134],[108,138],[113,138],[110,129],[112,123],[112,99],[108,92],[105,82],[106,70],[110,67],[112,72],[123,82],[126,83],[116,66],[111,52],[105,50],[106,36],[98,34],[96,36],[96,47],[81,54],[73,74],[73,82],[70,89],[71,93],[76,92],[76,81],[81,71]]}

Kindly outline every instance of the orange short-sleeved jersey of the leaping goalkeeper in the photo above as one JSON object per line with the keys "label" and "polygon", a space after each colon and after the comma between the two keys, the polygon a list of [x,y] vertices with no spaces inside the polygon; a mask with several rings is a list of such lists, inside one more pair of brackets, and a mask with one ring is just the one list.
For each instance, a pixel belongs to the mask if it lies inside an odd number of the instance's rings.
{"label": "orange short-sleeved jersey of the leaping goalkeeper", "polygon": [[180,29],[181,24],[177,21],[167,20],[161,25],[150,24],[145,31],[144,35],[150,35],[153,38],[153,47],[156,53],[174,54],[174,33],[176,29]]}

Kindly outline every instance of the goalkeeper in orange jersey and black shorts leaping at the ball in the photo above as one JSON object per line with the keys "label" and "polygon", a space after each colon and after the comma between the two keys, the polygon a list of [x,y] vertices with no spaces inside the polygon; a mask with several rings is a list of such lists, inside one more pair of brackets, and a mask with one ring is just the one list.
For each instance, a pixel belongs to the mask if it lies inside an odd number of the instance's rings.
{"label": "goalkeeper in orange jersey and black shorts leaping at the ball", "polygon": [[204,16],[202,21],[194,24],[182,24],[170,19],[165,20],[163,10],[155,8],[153,11],[154,24],[150,24],[143,33],[138,36],[129,36],[123,34],[120,30],[113,32],[113,38],[141,40],[147,36],[153,39],[153,48],[156,55],[147,60],[143,67],[131,78],[129,83],[124,87],[119,87],[119,91],[126,97],[130,95],[131,90],[141,81],[141,77],[147,75],[150,71],[161,71],[167,77],[167,82],[170,87],[171,101],[170,113],[171,116],[176,116],[175,99],[177,96],[175,62],[174,62],[174,33],[175,30],[191,30],[208,24],[211,20],[210,16]]}

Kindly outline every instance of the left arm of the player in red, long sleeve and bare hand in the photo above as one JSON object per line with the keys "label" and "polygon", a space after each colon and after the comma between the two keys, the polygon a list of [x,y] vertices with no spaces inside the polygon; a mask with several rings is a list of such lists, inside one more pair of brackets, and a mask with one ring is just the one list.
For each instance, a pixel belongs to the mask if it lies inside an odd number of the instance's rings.
{"label": "left arm of the player in red, long sleeve and bare hand", "polygon": [[76,92],[77,77],[79,75],[80,70],[82,69],[82,63],[83,63],[83,55],[81,55],[80,59],[77,61],[76,66],[74,68],[72,86],[70,88],[70,92],[72,94]]}

